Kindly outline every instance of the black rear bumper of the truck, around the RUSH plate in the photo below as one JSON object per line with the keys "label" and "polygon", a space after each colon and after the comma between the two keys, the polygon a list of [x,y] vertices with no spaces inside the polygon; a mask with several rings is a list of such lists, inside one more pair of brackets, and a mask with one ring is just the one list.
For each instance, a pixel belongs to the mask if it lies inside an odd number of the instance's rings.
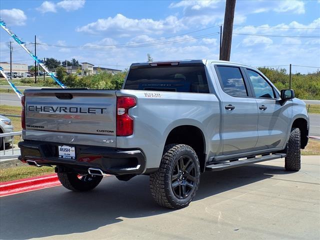
{"label": "black rear bumper of the truck, around the RUSH plate", "polygon": [[78,173],[86,173],[89,167],[100,168],[104,173],[141,174],[145,168],[145,157],[140,149],[120,149],[89,145],[72,145],[75,147],[75,159],[58,157],[57,142],[20,141],[18,146],[22,162],[35,161],[39,165],[64,166]]}

